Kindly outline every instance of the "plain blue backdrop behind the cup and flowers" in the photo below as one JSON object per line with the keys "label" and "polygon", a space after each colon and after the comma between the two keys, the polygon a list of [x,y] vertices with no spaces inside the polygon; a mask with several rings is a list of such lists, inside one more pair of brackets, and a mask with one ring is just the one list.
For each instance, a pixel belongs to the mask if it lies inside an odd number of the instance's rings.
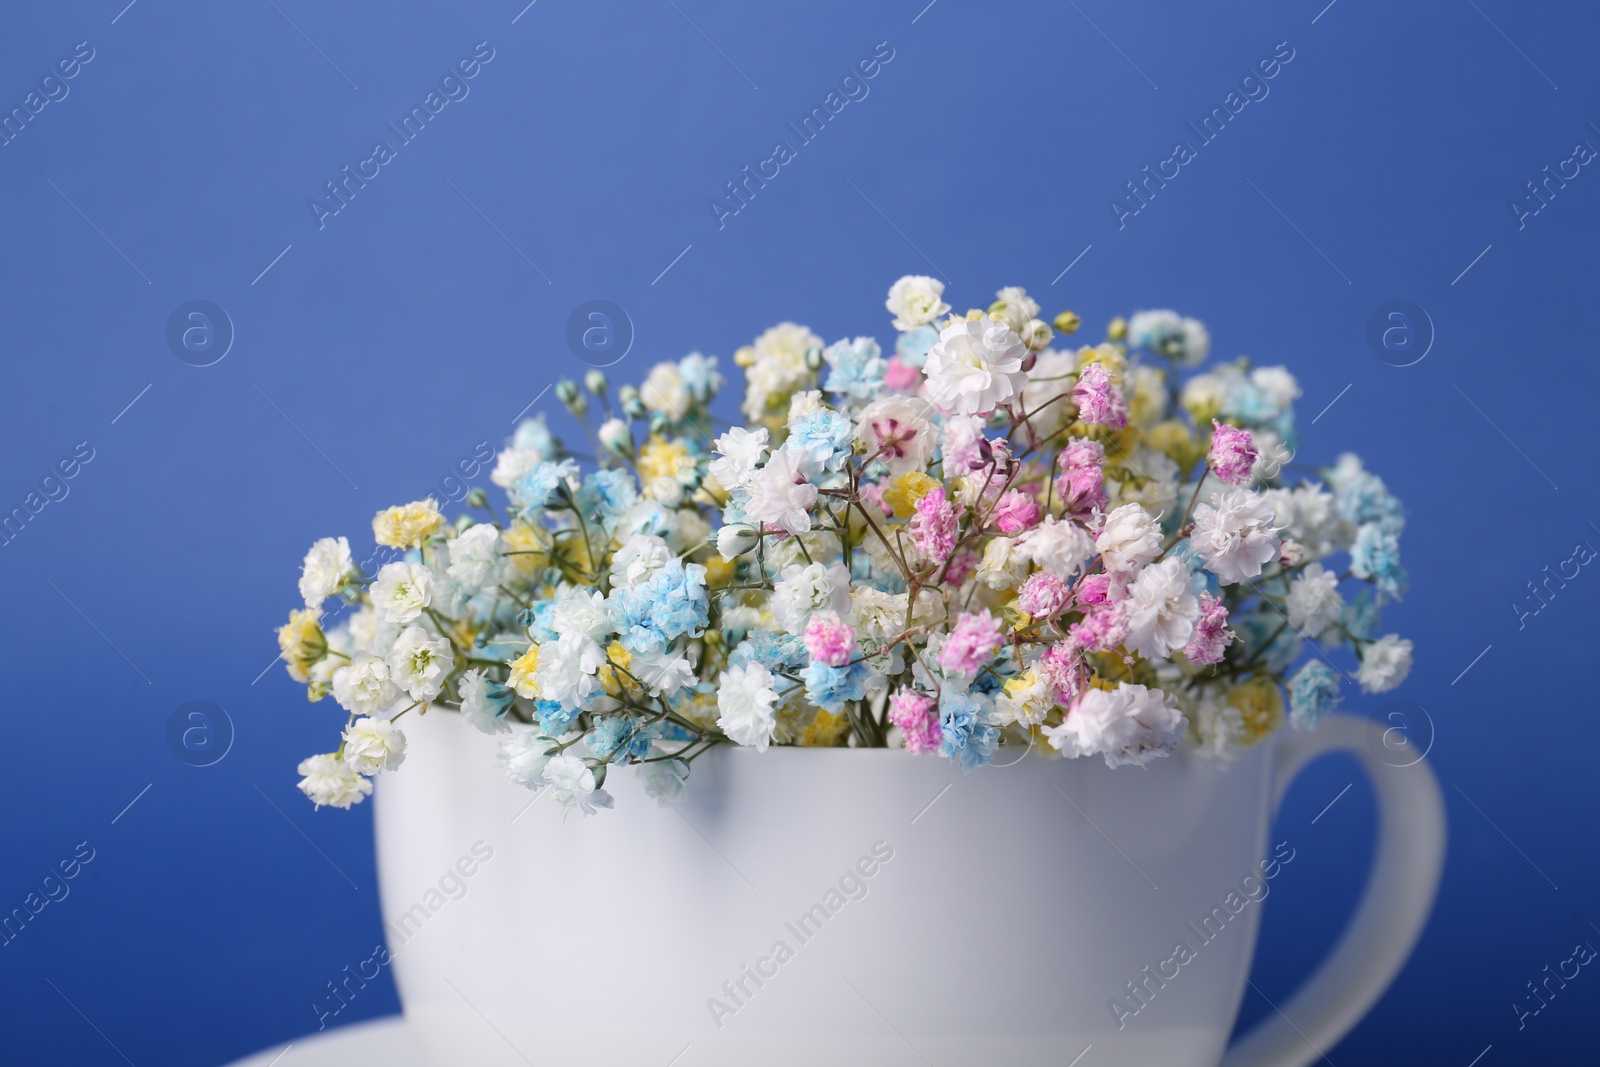
{"label": "plain blue backdrop behind the cup and flowers", "polygon": [[[123,1062],[115,1045],[136,1064],[219,1064],[314,1029],[323,982],[370,955],[370,806],[314,813],[294,790],[333,725],[280,669],[261,677],[272,630],[312,539],[368,544],[378,507],[499,445],[582,370],[565,342],[578,304],[627,309],[637,341],[614,374],[637,379],[691,349],[728,368],[782,318],[888,338],[902,274],[947,277],[957,307],[1024,285],[1091,336],[1176,307],[1216,355],[1299,376],[1302,456],[1355,448],[1410,507],[1413,585],[1386,629],[1416,640],[1397,696],[1427,710],[1451,817],[1416,955],[1326,1053],[1592,1054],[1600,979],[1520,1032],[1509,1009],[1544,965],[1600,944],[1582,665],[1600,577],[1584,569],[1522,629],[1512,608],[1574,544],[1600,545],[1600,174],[1525,229],[1509,208],[1576,142],[1600,146],[1592,8],[123,3],[29,5],[0,34],[5,109],[77,42],[94,48],[0,147],[0,507],[77,442],[94,450],[0,552],[0,909],[78,841],[96,849],[0,949],[8,1059]],[[318,229],[307,200],[480,40],[494,59],[470,96]],[[870,96],[718,229],[709,197],[880,40],[894,58]],[[1107,202],[1194,142],[1186,122],[1278,42],[1294,59],[1270,96],[1118,229]],[[197,298],[237,330],[208,368],[165,342]],[[1363,336],[1395,298],[1437,328],[1414,366]],[[550,397],[534,410],[565,424]],[[237,729],[210,768],[165,739],[192,699]],[[1296,785],[1277,837],[1298,861],[1253,974],[1274,1001],[1338,936],[1371,832],[1354,765]],[[339,1022],[397,1009],[371,985]],[[1266,1011],[1246,993],[1245,1019]]]}

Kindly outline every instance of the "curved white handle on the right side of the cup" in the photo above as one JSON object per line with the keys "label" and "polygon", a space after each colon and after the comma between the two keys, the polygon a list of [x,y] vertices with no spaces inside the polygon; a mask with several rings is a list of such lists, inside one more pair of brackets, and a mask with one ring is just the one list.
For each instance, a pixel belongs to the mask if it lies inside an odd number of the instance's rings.
{"label": "curved white handle on the right side of the cup", "polygon": [[1378,854],[1344,937],[1282,1011],[1227,1049],[1219,1067],[1306,1067],[1322,1059],[1389,987],[1422,933],[1445,864],[1445,798],[1421,757],[1406,766],[1379,758],[1384,733],[1368,718],[1328,715],[1278,750],[1274,813],[1317,757],[1349,752],[1362,761],[1378,793]]}

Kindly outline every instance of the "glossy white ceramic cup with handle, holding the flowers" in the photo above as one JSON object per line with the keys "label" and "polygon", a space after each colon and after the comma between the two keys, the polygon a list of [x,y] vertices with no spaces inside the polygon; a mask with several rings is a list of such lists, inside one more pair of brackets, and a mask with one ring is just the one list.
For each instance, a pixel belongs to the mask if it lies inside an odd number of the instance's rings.
{"label": "glossy white ceramic cup with handle, holding the flowers", "polygon": [[[594,817],[507,781],[458,715],[406,731],[376,798],[382,913],[442,1067],[1301,1067],[1400,969],[1445,849],[1432,771],[1344,715],[1144,771],[715,749],[667,808],[614,768]],[[1224,1054],[1261,901],[1309,846],[1269,841],[1272,814],[1333,750],[1379,801],[1366,893]]]}

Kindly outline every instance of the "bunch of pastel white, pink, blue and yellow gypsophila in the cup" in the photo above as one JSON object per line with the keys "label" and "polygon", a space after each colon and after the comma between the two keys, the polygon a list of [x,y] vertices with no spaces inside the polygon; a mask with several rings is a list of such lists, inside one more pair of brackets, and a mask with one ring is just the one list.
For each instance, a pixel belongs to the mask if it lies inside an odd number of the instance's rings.
{"label": "bunch of pastel white, pink, blue and yellow gypsophila in the cup", "polygon": [[747,424],[715,438],[714,358],[614,405],[598,371],[562,382],[586,434],[606,416],[595,469],[526,421],[491,474],[502,512],[483,490],[453,522],[384,510],[398,558],[371,576],[344,537],[312,545],[278,640],[347,721],[301,763],[306,795],[360,801],[430,709],[590,813],[614,766],[670,800],[718,744],[1227,758],[1283,723],[1285,691],[1309,729],[1346,670],[1400,685],[1411,641],[1374,637],[1405,585],[1400,504],[1354,454],[1286,485],[1286,370],[1194,373],[1206,330],[1168,310],[1058,349],[1072,312],[1005,288],[950,315],[942,294],[894,283],[888,357],[773,326],[734,355]]}

